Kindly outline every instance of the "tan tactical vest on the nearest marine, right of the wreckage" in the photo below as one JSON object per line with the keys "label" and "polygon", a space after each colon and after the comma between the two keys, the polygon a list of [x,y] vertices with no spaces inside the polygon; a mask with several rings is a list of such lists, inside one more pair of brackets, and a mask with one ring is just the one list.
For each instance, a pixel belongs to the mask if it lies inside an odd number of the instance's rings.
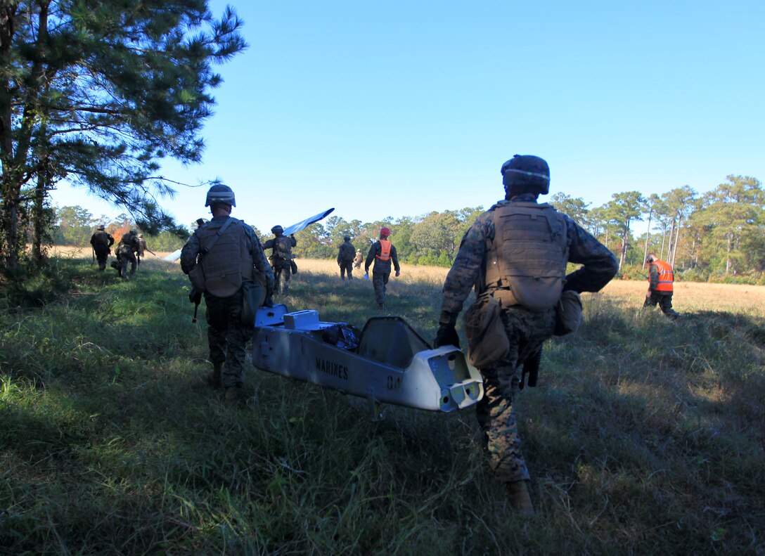
{"label": "tan tactical vest on the nearest marine, right of the wreckage", "polygon": [[506,203],[494,210],[487,289],[509,288],[523,307],[550,309],[561,297],[567,262],[565,219],[551,205]]}

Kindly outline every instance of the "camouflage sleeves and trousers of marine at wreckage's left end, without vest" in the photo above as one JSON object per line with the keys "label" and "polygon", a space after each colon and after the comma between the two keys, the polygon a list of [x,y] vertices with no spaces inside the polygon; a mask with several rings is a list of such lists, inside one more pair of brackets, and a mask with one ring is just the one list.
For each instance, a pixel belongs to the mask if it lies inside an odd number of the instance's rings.
{"label": "camouflage sleeves and trousers of marine at wreckage's left end, without vest", "polygon": [[[216,216],[203,226],[220,227],[230,216]],[[203,226],[200,226],[201,229]],[[198,230],[198,229],[197,229]],[[258,236],[247,224],[243,225],[247,247],[255,268],[265,277],[266,291],[270,293],[274,281],[269,261],[265,258]],[[181,270],[188,274],[197,265],[201,252],[197,231],[181,249]],[[210,347],[210,362],[221,367],[220,382],[224,388],[241,386],[244,379],[246,346],[252,337],[252,327],[242,324],[243,291],[240,288],[228,298],[219,298],[209,291],[204,292],[207,306],[207,344]]]}

